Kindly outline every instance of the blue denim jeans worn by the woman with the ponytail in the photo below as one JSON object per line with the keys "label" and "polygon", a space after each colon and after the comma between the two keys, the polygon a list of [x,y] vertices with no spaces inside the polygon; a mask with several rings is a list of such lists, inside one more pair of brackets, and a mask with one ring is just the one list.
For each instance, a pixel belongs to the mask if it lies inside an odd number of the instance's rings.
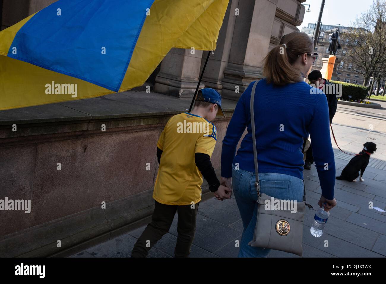
{"label": "blue denim jeans worn by the woman with the ponytail", "polygon": [[[303,201],[303,180],[280,173],[259,173],[260,192],[285,200]],[[256,227],[257,191],[256,174],[232,169],[232,187],[244,227],[238,257],[267,257],[268,248],[251,247]],[[267,230],[271,230],[268,229]]]}

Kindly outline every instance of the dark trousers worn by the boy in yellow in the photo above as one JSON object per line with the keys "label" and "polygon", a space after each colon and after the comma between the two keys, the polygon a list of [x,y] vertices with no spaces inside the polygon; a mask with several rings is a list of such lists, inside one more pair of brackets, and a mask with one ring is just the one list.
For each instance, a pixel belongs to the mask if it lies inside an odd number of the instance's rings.
{"label": "dark trousers worn by the boy in yellow", "polygon": [[[191,205],[166,205],[156,201],[154,213],[142,235],[138,238],[131,252],[131,257],[146,257],[149,250],[168,233],[176,211],[178,213],[177,244],[174,257],[188,257],[196,231],[197,202]],[[150,242],[149,242],[150,241]],[[147,245],[148,244],[148,245]]]}

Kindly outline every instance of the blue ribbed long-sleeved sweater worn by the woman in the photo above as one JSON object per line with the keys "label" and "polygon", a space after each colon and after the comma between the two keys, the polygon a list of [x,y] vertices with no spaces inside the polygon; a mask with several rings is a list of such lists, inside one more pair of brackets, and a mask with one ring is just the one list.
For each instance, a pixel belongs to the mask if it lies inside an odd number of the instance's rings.
{"label": "blue ribbed long-sleeved sweater worn by the woman", "polygon": [[[232,163],[255,172],[250,99],[252,82],[237,102],[227,133],[222,141],[221,176],[232,176]],[[254,99],[259,173],[282,173],[303,179],[303,137],[311,136],[322,195],[334,198],[335,161],[332,150],[327,97],[322,90],[305,82],[283,87],[257,83]],[[235,156],[239,140],[247,134]],[[327,169],[328,168],[328,169]]]}

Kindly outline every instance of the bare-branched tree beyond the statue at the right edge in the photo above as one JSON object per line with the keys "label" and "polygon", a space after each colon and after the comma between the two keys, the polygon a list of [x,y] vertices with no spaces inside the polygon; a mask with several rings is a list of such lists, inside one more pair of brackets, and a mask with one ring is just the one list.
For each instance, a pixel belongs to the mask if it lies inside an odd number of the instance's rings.
{"label": "bare-branched tree beyond the statue at the right edge", "polygon": [[386,77],[386,1],[374,0],[370,9],[362,12],[352,26],[345,32],[347,57],[364,76],[363,85],[366,86],[370,77],[374,80]]}

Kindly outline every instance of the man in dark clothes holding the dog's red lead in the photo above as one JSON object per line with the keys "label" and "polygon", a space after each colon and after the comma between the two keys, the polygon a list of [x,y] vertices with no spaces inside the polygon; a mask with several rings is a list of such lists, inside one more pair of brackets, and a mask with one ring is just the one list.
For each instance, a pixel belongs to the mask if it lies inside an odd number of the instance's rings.
{"label": "man in dark clothes holding the dog's red lead", "polygon": [[[329,94],[328,90],[331,90],[332,88],[328,88],[329,82],[327,82],[326,79],[323,79],[322,73],[320,73],[319,70],[313,70],[308,74],[308,80],[311,82],[311,84],[315,85],[315,87],[324,89],[324,93],[327,97],[327,102],[328,102],[328,111],[330,113],[330,125],[332,123],[332,118],[335,115],[335,112],[337,111],[337,105],[338,105],[338,99],[336,94]],[[303,143],[303,149],[306,145],[306,141],[308,138],[304,138],[304,143]],[[311,165],[313,164],[313,156],[312,156],[312,144],[310,145],[310,148],[308,148],[306,152],[306,160],[304,164],[304,168],[307,170],[311,169]]]}

